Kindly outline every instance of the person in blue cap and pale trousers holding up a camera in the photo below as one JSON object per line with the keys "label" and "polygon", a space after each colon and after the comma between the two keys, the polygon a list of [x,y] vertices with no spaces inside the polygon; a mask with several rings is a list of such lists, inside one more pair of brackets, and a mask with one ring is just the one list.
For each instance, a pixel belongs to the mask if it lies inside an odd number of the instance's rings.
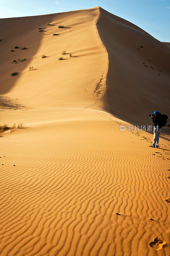
{"label": "person in blue cap and pale trousers holding up a camera", "polygon": [[162,128],[162,125],[161,125],[161,113],[159,113],[158,111],[155,111],[153,115],[150,115],[152,116],[152,122],[153,122],[153,126],[154,126],[154,129],[153,129],[153,143],[151,146],[149,147],[152,147],[152,148],[158,148],[159,147],[159,134],[161,132],[161,128]]}

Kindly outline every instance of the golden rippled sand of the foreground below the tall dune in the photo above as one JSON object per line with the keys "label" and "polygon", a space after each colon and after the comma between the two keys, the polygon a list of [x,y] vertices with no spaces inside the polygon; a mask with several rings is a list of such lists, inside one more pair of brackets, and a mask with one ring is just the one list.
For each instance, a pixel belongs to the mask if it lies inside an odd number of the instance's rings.
{"label": "golden rippled sand of the foreground below the tall dune", "polygon": [[118,128],[103,118],[1,138],[1,256],[167,255],[149,244],[169,244],[168,162]]}

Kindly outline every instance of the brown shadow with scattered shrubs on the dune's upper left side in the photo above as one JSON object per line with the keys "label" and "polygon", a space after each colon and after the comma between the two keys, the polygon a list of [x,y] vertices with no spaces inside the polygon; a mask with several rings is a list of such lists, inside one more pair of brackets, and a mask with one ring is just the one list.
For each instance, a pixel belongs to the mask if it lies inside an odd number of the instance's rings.
{"label": "brown shadow with scattered shrubs on the dune's upper left side", "polygon": [[[41,27],[43,27],[47,23],[47,20],[52,22],[54,16],[56,15],[48,14],[0,20],[1,38],[3,39],[1,42],[2,51],[0,53],[0,70],[3,73],[3,76],[1,76],[0,94],[5,94],[11,90],[21,76],[20,73],[22,70],[29,65],[29,62],[31,63],[32,57],[40,47],[43,33],[39,32],[38,28],[40,26],[37,24],[42,24]],[[16,45],[19,46],[18,49],[14,49]],[[27,47],[28,49],[21,51],[20,49],[23,47]],[[15,51],[11,52],[12,49]],[[21,57],[26,58],[27,61],[16,64],[15,66],[10,65],[13,60]],[[12,72],[18,72],[18,75],[11,77],[10,74]]]}

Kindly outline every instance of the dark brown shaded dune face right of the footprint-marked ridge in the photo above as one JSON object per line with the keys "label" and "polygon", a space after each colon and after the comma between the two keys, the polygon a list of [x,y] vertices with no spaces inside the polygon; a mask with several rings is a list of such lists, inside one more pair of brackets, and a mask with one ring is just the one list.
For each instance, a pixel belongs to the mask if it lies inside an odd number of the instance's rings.
{"label": "dark brown shaded dune face right of the footprint-marked ridge", "polygon": [[108,53],[105,110],[139,126],[152,125],[155,110],[170,115],[169,48],[101,7],[96,26]]}

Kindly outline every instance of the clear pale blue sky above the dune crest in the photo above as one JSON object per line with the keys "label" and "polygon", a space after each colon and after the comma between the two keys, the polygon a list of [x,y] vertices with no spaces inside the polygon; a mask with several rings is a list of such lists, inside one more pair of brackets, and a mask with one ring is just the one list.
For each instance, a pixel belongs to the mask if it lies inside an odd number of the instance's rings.
{"label": "clear pale blue sky above the dune crest", "polygon": [[0,0],[0,18],[67,12],[101,6],[162,42],[170,42],[170,0]]}

